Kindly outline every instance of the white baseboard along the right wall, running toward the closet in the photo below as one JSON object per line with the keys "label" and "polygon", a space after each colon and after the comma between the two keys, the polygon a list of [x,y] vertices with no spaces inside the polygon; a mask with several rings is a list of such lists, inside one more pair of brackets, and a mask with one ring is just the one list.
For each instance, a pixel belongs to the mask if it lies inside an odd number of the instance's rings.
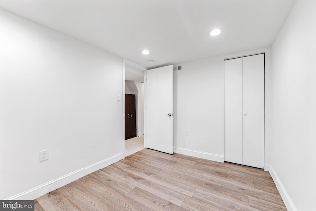
{"label": "white baseboard along the right wall, running toward the closet", "polygon": [[281,180],[278,178],[275,169],[273,169],[273,167],[271,165],[269,166],[269,173],[270,173],[273,181],[276,184],[277,190],[280,192],[280,195],[284,201],[284,204],[285,204],[287,210],[288,211],[297,211],[293,201],[291,200],[290,196],[286,192]]}

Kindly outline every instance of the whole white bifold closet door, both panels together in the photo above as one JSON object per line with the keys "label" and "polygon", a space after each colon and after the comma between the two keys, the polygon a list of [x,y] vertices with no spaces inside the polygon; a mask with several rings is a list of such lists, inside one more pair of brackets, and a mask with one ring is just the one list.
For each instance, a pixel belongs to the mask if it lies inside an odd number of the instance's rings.
{"label": "whole white bifold closet door, both panels together", "polygon": [[264,54],[224,65],[224,160],[263,168]]}

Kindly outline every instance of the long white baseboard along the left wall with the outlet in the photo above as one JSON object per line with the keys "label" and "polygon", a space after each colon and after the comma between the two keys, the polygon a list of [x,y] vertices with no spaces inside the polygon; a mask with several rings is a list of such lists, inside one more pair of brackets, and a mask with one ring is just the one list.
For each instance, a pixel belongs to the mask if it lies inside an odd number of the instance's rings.
{"label": "long white baseboard along the left wall with the outlet", "polygon": [[44,184],[41,184],[37,187],[31,188],[30,190],[19,193],[15,196],[7,198],[6,200],[33,200],[33,199],[36,199],[36,198],[38,198],[46,193],[49,193],[50,191],[56,190],[57,188],[60,188],[64,185],[67,185],[67,184],[73,182],[73,181],[76,181],[77,179],[79,179],[83,176],[86,176],[94,171],[97,171],[99,169],[107,167],[110,164],[113,164],[113,163],[115,163],[119,160],[122,160],[122,159],[124,159],[124,153],[119,153],[119,154],[114,155],[110,158],[104,159],[102,161],[91,164],[91,165],[84,167],[82,169],[78,169],[76,171],[68,173],[62,177],[57,178],[57,179],[54,179],[54,180],[51,180],[51,181],[46,182]]}

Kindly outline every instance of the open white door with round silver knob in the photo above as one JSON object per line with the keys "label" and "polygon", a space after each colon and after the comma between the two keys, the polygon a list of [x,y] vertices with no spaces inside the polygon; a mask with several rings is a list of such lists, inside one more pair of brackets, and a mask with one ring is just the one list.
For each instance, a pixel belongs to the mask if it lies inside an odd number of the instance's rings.
{"label": "open white door with round silver knob", "polygon": [[173,154],[173,65],[146,71],[146,148]]}

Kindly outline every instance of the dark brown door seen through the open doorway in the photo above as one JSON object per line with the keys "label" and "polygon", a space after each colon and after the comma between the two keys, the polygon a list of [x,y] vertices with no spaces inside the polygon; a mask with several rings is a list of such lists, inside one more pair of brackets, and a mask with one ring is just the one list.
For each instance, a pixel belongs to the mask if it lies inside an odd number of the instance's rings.
{"label": "dark brown door seen through the open doorway", "polygon": [[125,94],[125,140],[136,137],[136,101],[134,94]]}

